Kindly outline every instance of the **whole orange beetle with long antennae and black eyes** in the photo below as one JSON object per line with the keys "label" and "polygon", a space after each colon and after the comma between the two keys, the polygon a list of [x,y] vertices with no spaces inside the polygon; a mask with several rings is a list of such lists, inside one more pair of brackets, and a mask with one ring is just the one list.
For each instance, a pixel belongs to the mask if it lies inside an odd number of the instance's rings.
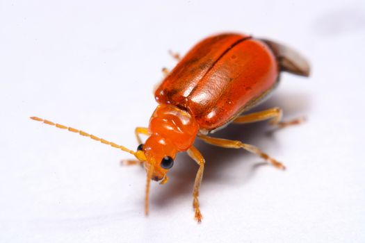
{"label": "whole orange beetle with long antennae and black eyes", "polygon": [[[175,55],[175,58],[179,59],[179,56]],[[154,92],[159,104],[149,119],[149,127],[137,127],[135,130],[140,144],[136,151],[46,119],[31,119],[79,133],[135,156],[137,160],[127,160],[127,164],[144,165],[147,171],[146,215],[149,211],[150,181],[165,184],[176,154],[186,151],[199,165],[193,186],[193,208],[195,219],[200,222],[202,213],[198,196],[205,160],[193,146],[196,138],[216,146],[245,149],[279,169],[285,168],[256,146],[209,136],[209,133],[231,122],[247,124],[269,120],[269,124],[278,128],[299,124],[301,119],[281,121],[281,108],[246,113],[275,90],[279,74],[283,71],[309,76],[309,63],[298,52],[271,40],[240,33],[206,37],[179,59],[171,72],[163,69],[165,78]],[[149,136],[144,144],[140,135]]]}

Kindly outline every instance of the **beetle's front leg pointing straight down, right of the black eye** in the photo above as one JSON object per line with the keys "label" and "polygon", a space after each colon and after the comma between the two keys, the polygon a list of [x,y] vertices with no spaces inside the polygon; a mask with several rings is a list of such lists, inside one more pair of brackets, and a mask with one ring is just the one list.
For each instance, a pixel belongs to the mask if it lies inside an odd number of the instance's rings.
{"label": "beetle's front leg pointing straight down, right of the black eye", "polygon": [[202,213],[200,212],[199,208],[198,196],[200,184],[202,183],[205,160],[202,156],[202,153],[200,153],[200,151],[197,150],[195,146],[191,146],[187,152],[190,158],[193,158],[193,160],[195,160],[195,162],[197,162],[197,164],[199,165],[199,169],[197,170],[197,176],[195,177],[194,182],[193,208],[195,210],[195,219],[200,223],[202,221]]}

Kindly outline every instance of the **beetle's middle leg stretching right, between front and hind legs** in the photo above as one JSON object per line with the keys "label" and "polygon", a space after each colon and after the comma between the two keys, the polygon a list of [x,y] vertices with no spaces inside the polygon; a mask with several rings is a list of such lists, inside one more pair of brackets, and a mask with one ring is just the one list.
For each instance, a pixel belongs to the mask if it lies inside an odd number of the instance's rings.
{"label": "beetle's middle leg stretching right, between front and hind legs", "polygon": [[275,160],[274,158],[271,158],[266,153],[263,153],[263,151],[257,148],[257,146],[253,146],[251,144],[244,144],[243,142],[237,140],[225,140],[222,138],[209,137],[202,134],[199,134],[197,136],[200,137],[200,139],[203,140],[204,142],[215,146],[221,146],[223,148],[228,148],[228,149],[245,149],[251,153],[257,154],[267,162],[270,162],[271,165],[279,169],[285,169],[285,166],[282,165],[281,162]]}

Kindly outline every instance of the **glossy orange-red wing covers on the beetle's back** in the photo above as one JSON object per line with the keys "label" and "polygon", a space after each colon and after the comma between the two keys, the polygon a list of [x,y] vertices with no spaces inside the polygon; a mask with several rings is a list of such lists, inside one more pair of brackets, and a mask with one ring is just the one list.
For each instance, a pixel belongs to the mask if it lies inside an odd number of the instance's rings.
{"label": "glossy orange-red wing covers on the beetle's back", "polygon": [[155,98],[187,110],[200,131],[227,124],[273,90],[279,67],[273,51],[248,35],[199,42],[156,89]]}

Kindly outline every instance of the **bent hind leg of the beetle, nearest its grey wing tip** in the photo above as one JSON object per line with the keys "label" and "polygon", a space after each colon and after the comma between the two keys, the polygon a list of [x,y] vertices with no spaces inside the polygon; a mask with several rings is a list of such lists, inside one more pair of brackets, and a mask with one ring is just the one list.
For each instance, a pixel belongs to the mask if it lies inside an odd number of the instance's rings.
{"label": "bent hind leg of the beetle, nearest its grey wing tip", "polygon": [[281,108],[270,108],[268,110],[242,115],[241,117],[237,117],[236,119],[234,119],[233,122],[237,124],[246,124],[270,119],[270,125],[277,126],[277,128],[284,128],[286,126],[300,124],[302,123],[302,121],[305,120],[304,117],[300,117],[291,121],[281,121],[282,113],[283,112]]}

